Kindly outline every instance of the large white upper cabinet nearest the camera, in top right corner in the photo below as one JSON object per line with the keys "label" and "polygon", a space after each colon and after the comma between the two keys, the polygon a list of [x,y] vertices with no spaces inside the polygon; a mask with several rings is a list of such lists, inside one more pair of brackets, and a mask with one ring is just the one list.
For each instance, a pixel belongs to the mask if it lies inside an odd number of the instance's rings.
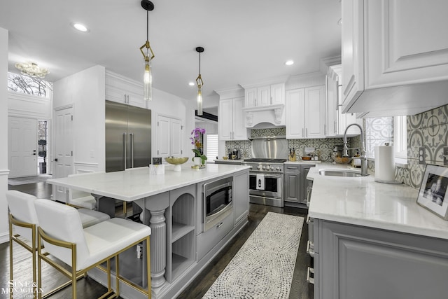
{"label": "large white upper cabinet nearest the camera, in top right corner", "polygon": [[447,104],[447,11],[444,0],[343,0],[343,112],[409,115]]}

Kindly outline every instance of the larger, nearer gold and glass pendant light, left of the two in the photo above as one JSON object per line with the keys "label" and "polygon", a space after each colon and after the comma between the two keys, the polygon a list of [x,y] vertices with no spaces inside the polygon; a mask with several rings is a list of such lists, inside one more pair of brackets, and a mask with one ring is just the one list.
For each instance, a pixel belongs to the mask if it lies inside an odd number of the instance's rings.
{"label": "larger, nearer gold and glass pendant light, left of the two", "polygon": [[[149,45],[149,11],[153,11],[154,4],[149,0],[141,0],[141,7],[146,10],[146,43],[140,47],[141,54],[145,57],[145,69],[143,76],[144,99],[153,100],[153,74],[151,74],[151,60],[154,58],[153,49]],[[146,48],[146,50],[143,50]]]}

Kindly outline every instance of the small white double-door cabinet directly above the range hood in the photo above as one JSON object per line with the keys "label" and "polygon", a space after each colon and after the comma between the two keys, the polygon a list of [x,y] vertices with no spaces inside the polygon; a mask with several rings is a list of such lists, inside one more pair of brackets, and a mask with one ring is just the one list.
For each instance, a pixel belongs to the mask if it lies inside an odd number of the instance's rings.
{"label": "small white double-door cabinet directly above the range hood", "polygon": [[285,84],[262,85],[244,90],[245,106],[259,107],[285,103]]}

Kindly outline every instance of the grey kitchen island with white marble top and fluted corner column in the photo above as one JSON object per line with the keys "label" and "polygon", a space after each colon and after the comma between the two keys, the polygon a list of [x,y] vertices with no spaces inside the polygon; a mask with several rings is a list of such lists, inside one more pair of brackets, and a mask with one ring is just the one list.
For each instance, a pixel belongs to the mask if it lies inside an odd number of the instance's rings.
{"label": "grey kitchen island with white marble top and fluted corner column", "polygon": [[[248,222],[248,167],[243,165],[207,165],[192,169],[165,165],[165,174],[152,175],[149,167],[123,172],[94,172],[48,183],[92,193],[98,209],[109,210],[115,200],[134,202],[141,209],[141,221],[151,227],[151,288],[153,298],[174,298],[221,251]],[[232,178],[232,213],[216,228],[204,230],[204,183]],[[143,251],[145,252],[145,251]],[[145,256],[143,258],[146,258]],[[121,258],[120,258],[121,260]],[[144,260],[143,260],[144,262]],[[139,284],[148,274],[138,263]],[[106,274],[94,269],[90,277],[106,284]],[[146,287],[143,286],[142,287]],[[141,298],[141,293],[120,284],[123,298]]]}

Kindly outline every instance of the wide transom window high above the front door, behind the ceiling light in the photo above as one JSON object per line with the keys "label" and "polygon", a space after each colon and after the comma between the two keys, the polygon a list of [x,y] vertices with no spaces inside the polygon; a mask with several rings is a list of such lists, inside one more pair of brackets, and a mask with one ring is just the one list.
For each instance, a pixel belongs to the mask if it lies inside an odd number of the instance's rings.
{"label": "wide transom window high above the front door, behind the ceiling light", "polygon": [[50,98],[52,83],[44,81],[41,78],[33,78],[8,72],[8,90],[26,95]]}

